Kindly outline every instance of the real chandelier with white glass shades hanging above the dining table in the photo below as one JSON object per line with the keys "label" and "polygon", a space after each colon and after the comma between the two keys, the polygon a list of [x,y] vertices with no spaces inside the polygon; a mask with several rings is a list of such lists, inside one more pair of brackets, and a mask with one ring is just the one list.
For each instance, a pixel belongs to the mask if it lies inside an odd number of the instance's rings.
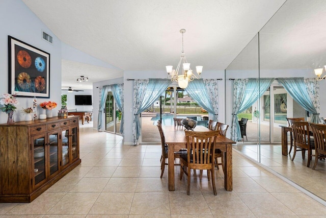
{"label": "real chandelier with white glass shades hanging above the dining table", "polygon": [[[181,29],[180,33],[182,33],[182,51],[181,51],[181,58],[177,65],[176,69],[173,69],[173,66],[166,66],[168,72],[168,79],[171,81],[178,82],[180,88],[186,88],[188,86],[189,81],[193,81],[195,78],[200,79],[201,73],[203,70],[203,66],[196,66],[197,76],[193,74],[193,70],[190,68],[190,63],[187,62],[185,58],[185,54],[183,51],[183,34],[185,33],[185,29]],[[182,62],[182,72],[179,75],[179,68]]]}

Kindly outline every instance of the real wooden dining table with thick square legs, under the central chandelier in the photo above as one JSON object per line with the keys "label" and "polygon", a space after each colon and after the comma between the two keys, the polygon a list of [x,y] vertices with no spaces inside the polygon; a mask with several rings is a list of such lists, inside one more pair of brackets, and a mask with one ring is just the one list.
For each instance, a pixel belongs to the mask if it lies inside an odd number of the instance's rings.
{"label": "real wooden dining table with thick square legs, under the central chandelier", "polygon": [[[183,127],[162,126],[162,128],[168,145],[169,191],[174,191],[174,164],[170,163],[174,163],[174,152],[187,148],[187,142]],[[203,126],[197,126],[194,131],[206,132],[211,130]],[[224,188],[228,191],[232,191],[232,144],[235,143],[235,141],[219,135],[215,145],[215,149],[220,149],[224,154]]]}

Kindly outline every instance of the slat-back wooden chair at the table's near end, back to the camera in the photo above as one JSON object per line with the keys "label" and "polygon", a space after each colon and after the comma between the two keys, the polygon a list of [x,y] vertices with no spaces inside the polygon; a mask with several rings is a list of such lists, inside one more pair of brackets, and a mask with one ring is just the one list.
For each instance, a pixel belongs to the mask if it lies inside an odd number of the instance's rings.
{"label": "slat-back wooden chair at the table's near end, back to the camera", "polygon": [[218,135],[218,131],[185,131],[187,153],[180,155],[180,180],[182,180],[184,173],[187,176],[187,195],[190,195],[191,169],[194,169],[194,171],[196,169],[207,169],[211,174],[214,195],[217,195],[212,157],[215,155],[215,144]]}

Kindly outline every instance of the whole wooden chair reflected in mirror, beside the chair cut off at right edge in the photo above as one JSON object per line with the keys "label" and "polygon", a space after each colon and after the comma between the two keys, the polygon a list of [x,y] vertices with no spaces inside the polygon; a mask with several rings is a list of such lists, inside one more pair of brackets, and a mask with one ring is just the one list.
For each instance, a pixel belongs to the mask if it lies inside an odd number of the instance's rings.
{"label": "whole wooden chair reflected in mirror, beside the chair cut off at right edge", "polygon": [[292,132],[293,132],[293,147],[294,147],[292,161],[294,160],[297,151],[302,152],[303,160],[305,159],[305,151],[308,151],[307,167],[309,167],[311,157],[313,156],[312,150],[315,149],[315,145],[313,141],[310,139],[309,123],[305,121],[292,123]]}

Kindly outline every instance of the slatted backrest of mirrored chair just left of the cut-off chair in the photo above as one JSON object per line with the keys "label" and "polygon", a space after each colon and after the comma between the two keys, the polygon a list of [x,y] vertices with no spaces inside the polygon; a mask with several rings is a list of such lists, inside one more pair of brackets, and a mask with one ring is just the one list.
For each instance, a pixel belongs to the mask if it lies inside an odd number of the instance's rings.
{"label": "slatted backrest of mirrored chair just left of the cut-off chair", "polygon": [[309,123],[297,121],[292,123],[292,132],[294,143],[298,147],[310,146]]}

